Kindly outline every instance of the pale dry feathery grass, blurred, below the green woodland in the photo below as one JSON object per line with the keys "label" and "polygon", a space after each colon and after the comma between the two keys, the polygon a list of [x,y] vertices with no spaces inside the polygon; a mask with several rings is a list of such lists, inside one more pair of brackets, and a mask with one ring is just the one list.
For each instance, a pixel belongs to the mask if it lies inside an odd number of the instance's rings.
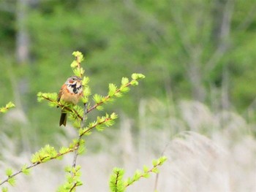
{"label": "pale dry feathery grass, blurred, below the green woodland", "polygon": [[[122,117],[118,131],[109,129],[91,136],[88,142],[100,143],[102,150],[96,154],[89,150],[78,158],[84,181],[78,191],[108,191],[114,166],[126,169],[129,177],[161,153],[168,160],[160,168],[158,191],[256,191],[256,141],[249,134],[252,125],[241,116],[233,112],[213,114],[192,101],[182,101],[178,107],[166,107],[157,100],[141,101],[139,113],[138,132],[132,131],[132,120]],[[0,175],[7,166],[18,169],[29,161],[28,152],[19,156],[12,153],[17,146],[4,134],[0,145]],[[63,167],[69,164],[72,155],[37,166],[30,176],[19,175],[17,186],[10,191],[56,191],[64,182]],[[155,179],[155,175],[142,179],[127,191],[153,192]]]}

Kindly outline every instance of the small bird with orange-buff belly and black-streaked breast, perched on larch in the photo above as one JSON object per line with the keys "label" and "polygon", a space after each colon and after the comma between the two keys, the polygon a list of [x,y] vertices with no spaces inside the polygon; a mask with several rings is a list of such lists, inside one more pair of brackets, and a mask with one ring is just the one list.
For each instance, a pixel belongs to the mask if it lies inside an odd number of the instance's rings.
{"label": "small bird with orange-buff belly and black-streaked breast, perched on larch", "polygon": [[[61,86],[57,101],[65,101],[69,104],[78,104],[78,101],[83,96],[82,79],[78,76],[72,76],[67,78],[66,82]],[[61,118],[59,120],[59,126],[66,126],[67,112],[61,110]]]}

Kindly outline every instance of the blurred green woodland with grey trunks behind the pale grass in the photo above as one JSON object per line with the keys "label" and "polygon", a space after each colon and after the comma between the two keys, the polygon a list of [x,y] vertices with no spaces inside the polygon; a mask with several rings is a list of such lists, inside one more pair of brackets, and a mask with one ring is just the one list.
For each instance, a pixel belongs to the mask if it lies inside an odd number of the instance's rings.
{"label": "blurred green woodland with grey trunks behind the pale grass", "polygon": [[0,106],[17,106],[1,115],[1,132],[58,144],[55,134],[66,131],[59,109],[38,103],[37,93],[59,92],[75,50],[85,55],[92,93],[146,75],[108,112],[136,119],[140,99],[189,99],[254,122],[255,11],[255,1],[0,0]]}

